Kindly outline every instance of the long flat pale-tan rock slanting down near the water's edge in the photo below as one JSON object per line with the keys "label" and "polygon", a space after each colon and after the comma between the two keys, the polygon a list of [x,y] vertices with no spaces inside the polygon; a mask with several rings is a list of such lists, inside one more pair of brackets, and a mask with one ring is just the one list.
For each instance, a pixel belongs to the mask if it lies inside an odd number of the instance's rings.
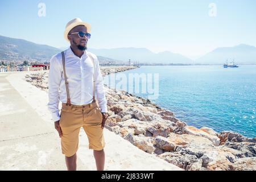
{"label": "long flat pale-tan rock slanting down near the water's edge", "polygon": [[210,135],[203,130],[199,130],[196,127],[185,126],[182,131],[183,131],[183,134],[205,137],[205,138],[209,139],[210,141],[212,141],[215,146],[218,146],[220,144],[220,138],[218,138],[215,135]]}

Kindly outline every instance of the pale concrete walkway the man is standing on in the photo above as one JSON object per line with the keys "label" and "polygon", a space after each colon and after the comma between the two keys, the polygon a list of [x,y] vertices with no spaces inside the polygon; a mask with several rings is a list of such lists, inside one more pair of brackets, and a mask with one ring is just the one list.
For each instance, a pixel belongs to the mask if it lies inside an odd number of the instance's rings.
{"label": "pale concrete walkway the man is standing on", "polygon": [[[47,92],[24,80],[31,73],[35,72],[0,74],[0,170],[65,170]],[[180,170],[107,129],[104,135],[105,170]],[[77,156],[77,169],[96,170],[83,130]]]}

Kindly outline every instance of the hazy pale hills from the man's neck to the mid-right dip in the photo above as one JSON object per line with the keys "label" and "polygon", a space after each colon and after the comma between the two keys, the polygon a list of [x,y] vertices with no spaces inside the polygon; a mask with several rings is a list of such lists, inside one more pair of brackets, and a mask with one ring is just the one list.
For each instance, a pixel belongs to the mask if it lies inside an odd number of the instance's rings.
{"label": "hazy pale hills from the man's neck to the mid-right dip", "polygon": [[170,51],[164,51],[159,53],[151,52],[146,48],[112,48],[112,49],[93,49],[88,48],[88,51],[96,53],[105,57],[111,57],[112,59],[125,60],[129,59],[131,62],[139,61],[139,63],[182,63],[190,64],[193,61],[178,53],[172,53]]}

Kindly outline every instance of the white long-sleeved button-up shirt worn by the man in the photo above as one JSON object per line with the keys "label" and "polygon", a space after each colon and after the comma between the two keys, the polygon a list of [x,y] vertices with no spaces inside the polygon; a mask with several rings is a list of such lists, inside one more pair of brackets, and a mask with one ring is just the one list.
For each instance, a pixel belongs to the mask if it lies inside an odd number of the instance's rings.
{"label": "white long-sleeved button-up shirt worn by the man", "polygon": [[[87,54],[88,51],[84,51],[84,54],[80,58],[73,53],[70,47],[64,51],[69,96],[71,104],[74,105],[89,104],[93,101],[93,63]],[[105,97],[104,80],[101,75],[98,58],[93,53],[90,53],[90,55],[92,55],[94,59],[93,61],[96,68],[95,97],[98,100],[101,112],[106,113],[107,101]],[[65,87],[61,53],[58,53],[51,58],[48,88],[48,109],[52,113],[53,121],[58,121],[60,119],[59,101],[67,103],[67,91]]]}

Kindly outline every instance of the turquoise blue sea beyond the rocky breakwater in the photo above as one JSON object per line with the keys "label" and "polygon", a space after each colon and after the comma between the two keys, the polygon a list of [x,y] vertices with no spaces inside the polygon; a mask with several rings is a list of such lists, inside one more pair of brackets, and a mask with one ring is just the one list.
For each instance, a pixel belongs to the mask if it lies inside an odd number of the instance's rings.
{"label": "turquoise blue sea beyond the rocky breakwater", "polygon": [[[188,125],[208,126],[220,132],[233,130],[247,137],[256,136],[256,65],[239,68],[213,66],[144,66],[115,73],[158,73],[159,96],[152,100],[174,111]],[[110,76],[105,78],[110,79]],[[151,79],[154,84],[154,80]],[[110,87],[117,85],[109,84]],[[134,82],[127,80],[129,91]],[[140,82],[142,86],[142,81]],[[149,93],[134,93],[148,98]]]}

